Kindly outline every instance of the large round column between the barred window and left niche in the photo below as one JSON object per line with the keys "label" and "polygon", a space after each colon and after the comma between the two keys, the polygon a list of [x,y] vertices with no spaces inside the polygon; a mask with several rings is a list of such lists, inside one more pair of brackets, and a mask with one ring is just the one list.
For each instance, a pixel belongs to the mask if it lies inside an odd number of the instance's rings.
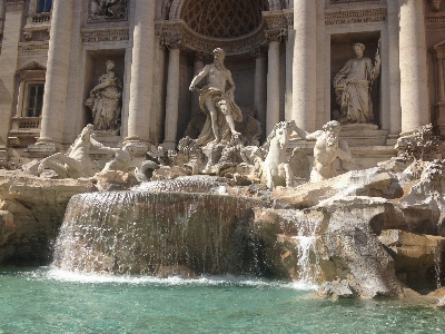
{"label": "large round column between the barred window and left niche", "polygon": [[42,120],[38,145],[61,145],[67,111],[68,77],[71,55],[72,13],[75,0],[55,0],[52,3],[47,77]]}

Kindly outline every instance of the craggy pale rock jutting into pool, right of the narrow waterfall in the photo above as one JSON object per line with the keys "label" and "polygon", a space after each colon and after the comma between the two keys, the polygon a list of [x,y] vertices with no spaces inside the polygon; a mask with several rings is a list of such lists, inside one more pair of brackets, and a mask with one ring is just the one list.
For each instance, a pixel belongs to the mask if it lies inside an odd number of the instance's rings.
{"label": "craggy pale rock jutting into pool, right of the narrow waterfall", "polygon": [[[327,261],[320,263],[324,271],[334,271],[335,276],[346,279],[362,297],[397,296],[403,292],[395,276],[394,261],[369,224],[386,212],[383,199],[345,197],[325,202],[314,209],[325,215],[319,249],[320,257]],[[329,263],[334,267],[329,268]]]}

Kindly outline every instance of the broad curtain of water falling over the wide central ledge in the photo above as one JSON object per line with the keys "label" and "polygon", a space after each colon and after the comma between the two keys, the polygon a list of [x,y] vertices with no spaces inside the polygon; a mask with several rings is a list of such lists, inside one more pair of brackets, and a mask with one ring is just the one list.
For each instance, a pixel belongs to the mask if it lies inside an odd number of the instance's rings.
{"label": "broad curtain of water falling over the wide central ledge", "polygon": [[116,191],[73,196],[55,264],[69,271],[159,275],[255,274],[246,245],[259,200],[209,194]]}

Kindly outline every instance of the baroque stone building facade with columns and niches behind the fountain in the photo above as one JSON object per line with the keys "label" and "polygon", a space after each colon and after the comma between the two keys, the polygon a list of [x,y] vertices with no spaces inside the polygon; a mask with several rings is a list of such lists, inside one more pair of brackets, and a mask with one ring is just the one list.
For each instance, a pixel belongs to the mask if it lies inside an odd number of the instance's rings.
{"label": "baroque stone building facade with columns and niches behind the fountain", "polygon": [[[372,117],[342,131],[356,159],[426,124],[445,135],[444,0],[0,0],[0,41],[2,160],[66,150],[89,122],[110,146],[174,149],[216,48],[261,139],[280,120],[344,119],[360,96]],[[362,57],[365,95],[345,72]]]}

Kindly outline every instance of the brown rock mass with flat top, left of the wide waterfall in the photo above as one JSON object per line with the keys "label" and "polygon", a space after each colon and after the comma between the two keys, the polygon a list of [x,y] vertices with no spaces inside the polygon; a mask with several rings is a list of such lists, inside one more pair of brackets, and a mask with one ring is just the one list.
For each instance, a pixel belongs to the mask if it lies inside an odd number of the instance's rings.
{"label": "brown rock mass with flat top, left of the wide waterfall", "polygon": [[0,265],[44,265],[71,196],[95,191],[90,179],[49,180],[0,170]]}

